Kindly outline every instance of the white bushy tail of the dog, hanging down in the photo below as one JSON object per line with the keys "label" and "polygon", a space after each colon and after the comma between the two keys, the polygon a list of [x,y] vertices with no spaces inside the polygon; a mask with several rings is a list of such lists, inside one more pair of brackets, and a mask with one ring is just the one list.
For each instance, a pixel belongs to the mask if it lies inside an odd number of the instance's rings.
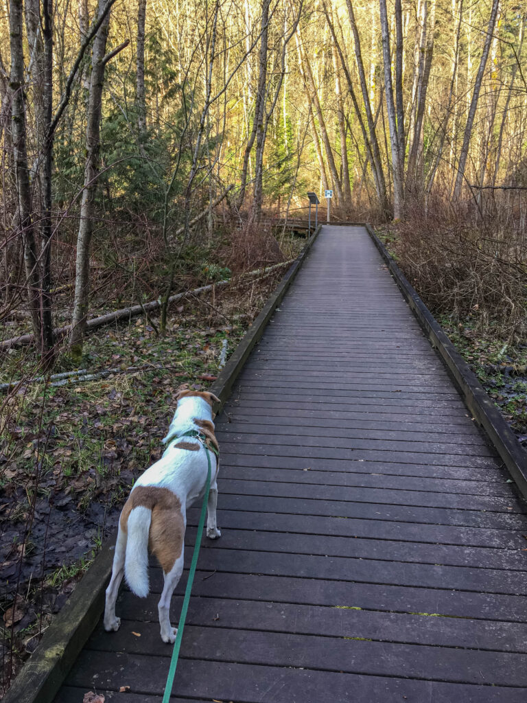
{"label": "white bushy tail of the dog, hanging down", "polygon": [[138,505],[128,517],[128,539],[124,557],[126,583],[139,598],[146,598],[148,585],[148,534],[152,510]]}

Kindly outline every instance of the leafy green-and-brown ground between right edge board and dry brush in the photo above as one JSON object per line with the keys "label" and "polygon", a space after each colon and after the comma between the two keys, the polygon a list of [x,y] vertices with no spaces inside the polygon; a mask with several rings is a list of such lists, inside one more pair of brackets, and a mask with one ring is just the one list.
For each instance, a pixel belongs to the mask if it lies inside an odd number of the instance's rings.
{"label": "leafy green-and-brown ground between right edge board and dry brush", "polygon": [[[391,255],[405,272],[404,259],[398,256],[396,235],[386,228],[379,228],[382,239]],[[436,316],[458,352],[474,371],[479,382],[500,409],[505,420],[516,434],[521,446],[527,450],[527,344],[518,340],[510,330],[497,322],[481,323],[481,314],[460,319],[455,313],[438,311],[412,281],[417,292]]]}

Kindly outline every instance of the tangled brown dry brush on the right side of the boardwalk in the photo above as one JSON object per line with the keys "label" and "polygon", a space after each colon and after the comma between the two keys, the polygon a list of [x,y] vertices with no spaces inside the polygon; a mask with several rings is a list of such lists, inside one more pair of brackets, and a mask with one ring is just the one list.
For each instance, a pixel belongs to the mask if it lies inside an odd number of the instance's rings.
{"label": "tangled brown dry brush on the right side of the boardwalk", "polygon": [[382,229],[412,285],[434,311],[493,327],[512,340],[527,331],[527,239],[505,207],[415,205]]}

